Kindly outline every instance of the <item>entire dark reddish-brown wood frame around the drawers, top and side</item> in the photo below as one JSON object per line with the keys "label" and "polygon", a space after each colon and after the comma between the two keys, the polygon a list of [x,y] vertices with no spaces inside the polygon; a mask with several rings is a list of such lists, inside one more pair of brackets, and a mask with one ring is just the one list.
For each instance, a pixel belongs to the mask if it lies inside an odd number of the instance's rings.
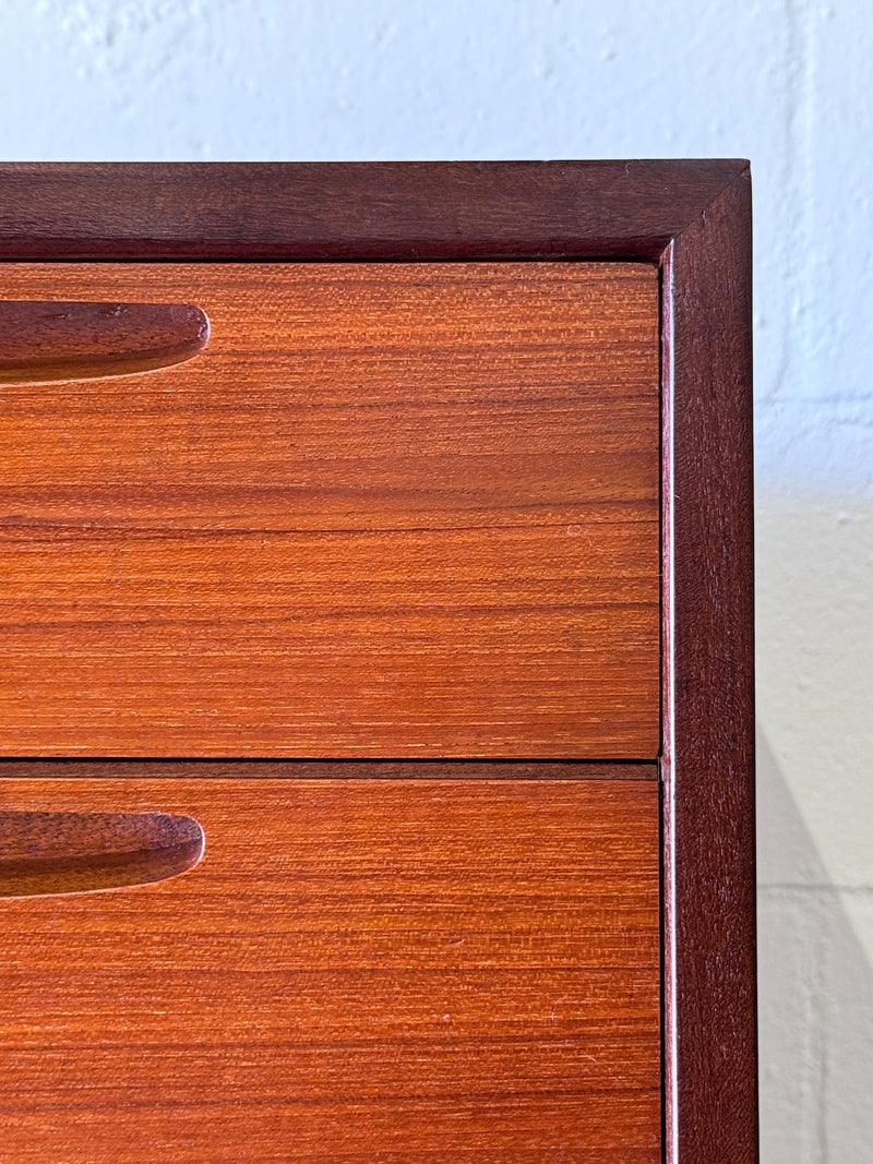
{"label": "entire dark reddish-brown wood frame around the drawers, top and side", "polygon": [[0,166],[0,258],[661,263],[668,1164],[758,1158],[744,162]]}

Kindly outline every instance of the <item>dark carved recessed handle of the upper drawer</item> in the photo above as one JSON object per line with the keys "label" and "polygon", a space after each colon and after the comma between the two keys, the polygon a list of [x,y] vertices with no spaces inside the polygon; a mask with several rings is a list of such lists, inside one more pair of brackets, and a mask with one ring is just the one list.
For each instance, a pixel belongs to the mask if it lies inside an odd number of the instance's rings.
{"label": "dark carved recessed handle of the upper drawer", "polygon": [[0,299],[0,383],[165,368],[190,360],[208,339],[210,321],[191,304]]}

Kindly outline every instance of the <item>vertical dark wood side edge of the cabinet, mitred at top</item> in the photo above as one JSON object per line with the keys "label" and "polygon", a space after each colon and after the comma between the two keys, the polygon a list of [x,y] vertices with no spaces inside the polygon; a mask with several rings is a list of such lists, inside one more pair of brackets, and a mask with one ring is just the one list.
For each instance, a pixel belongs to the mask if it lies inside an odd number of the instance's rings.
{"label": "vertical dark wood side edge of the cabinet, mitred at top", "polygon": [[665,1144],[758,1159],[751,186],[663,258]]}

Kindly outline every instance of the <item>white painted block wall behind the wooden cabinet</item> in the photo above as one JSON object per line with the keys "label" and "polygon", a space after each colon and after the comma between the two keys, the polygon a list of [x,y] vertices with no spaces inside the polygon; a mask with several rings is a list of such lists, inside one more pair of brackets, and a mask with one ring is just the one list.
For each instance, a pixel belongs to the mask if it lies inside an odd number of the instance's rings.
{"label": "white painted block wall behind the wooden cabinet", "polygon": [[870,0],[0,0],[0,157],[751,157],[765,1164],[873,1161]]}

